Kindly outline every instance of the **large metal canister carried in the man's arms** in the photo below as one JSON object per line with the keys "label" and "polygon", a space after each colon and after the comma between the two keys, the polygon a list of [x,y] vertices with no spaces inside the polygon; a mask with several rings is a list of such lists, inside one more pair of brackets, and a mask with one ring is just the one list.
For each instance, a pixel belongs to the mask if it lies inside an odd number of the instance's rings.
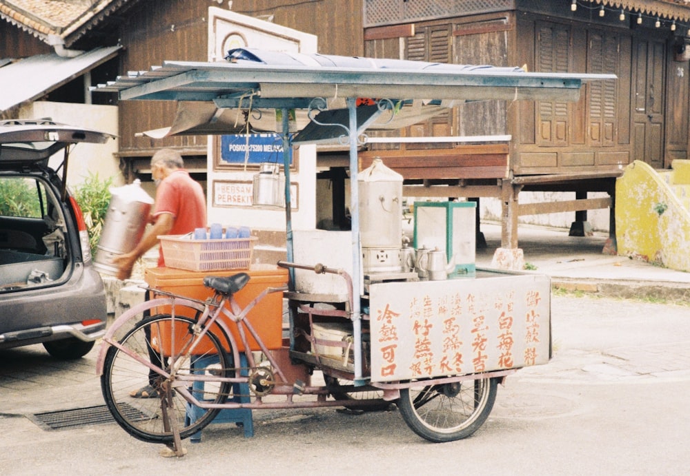
{"label": "large metal canister carried in the man's arms", "polygon": [[132,251],[144,235],[153,199],[141,188],[137,178],[130,185],[110,188],[110,204],[96,249],[94,267],[115,275],[112,258]]}

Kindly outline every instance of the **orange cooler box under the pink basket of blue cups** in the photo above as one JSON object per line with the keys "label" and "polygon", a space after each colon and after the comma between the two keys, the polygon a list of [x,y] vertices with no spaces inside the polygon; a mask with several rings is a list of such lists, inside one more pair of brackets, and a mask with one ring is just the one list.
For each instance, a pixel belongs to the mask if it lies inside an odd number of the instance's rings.
{"label": "orange cooler box under the pink basket of blue cups", "polygon": [[[284,268],[262,269],[257,271],[230,269],[227,271],[185,271],[184,269],[176,268],[147,268],[144,279],[149,287],[160,289],[161,291],[168,291],[170,293],[179,294],[188,298],[206,300],[213,296],[213,290],[204,286],[204,278],[206,276],[232,276],[237,273],[248,273],[250,276],[249,282],[242,288],[242,291],[235,294],[235,300],[241,307],[245,307],[254,298],[259,296],[259,293],[268,287],[282,287],[286,286],[288,282],[288,270]],[[183,308],[184,309],[184,308]],[[189,309],[185,309],[190,311]],[[169,313],[170,309],[159,309],[157,312]],[[180,315],[186,315],[181,312]],[[188,315],[188,317],[194,317]],[[259,301],[251,311],[249,311],[246,319],[250,322],[252,327],[257,331],[261,337],[264,345],[270,349],[280,349],[282,347],[282,333],[283,333],[283,293],[268,293]],[[237,343],[239,351],[244,351],[244,345],[239,338],[239,333],[234,323],[228,324],[230,331],[232,331]],[[164,333],[170,335],[170,332]],[[259,351],[259,344],[256,340],[245,332],[250,350]],[[165,336],[164,336],[165,337]],[[179,348],[178,343],[178,348]],[[200,346],[204,346],[202,341]],[[170,342],[163,342],[165,349],[170,348]],[[208,349],[199,349],[202,351]]]}

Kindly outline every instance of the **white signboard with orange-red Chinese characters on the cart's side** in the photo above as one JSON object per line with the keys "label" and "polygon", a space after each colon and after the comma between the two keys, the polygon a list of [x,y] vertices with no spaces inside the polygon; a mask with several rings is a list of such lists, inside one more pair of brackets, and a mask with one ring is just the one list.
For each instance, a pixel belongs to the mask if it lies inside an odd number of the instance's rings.
{"label": "white signboard with orange-red Chinese characters on the cart's side", "polygon": [[546,364],[551,287],[542,275],[387,282],[369,289],[371,381]]}

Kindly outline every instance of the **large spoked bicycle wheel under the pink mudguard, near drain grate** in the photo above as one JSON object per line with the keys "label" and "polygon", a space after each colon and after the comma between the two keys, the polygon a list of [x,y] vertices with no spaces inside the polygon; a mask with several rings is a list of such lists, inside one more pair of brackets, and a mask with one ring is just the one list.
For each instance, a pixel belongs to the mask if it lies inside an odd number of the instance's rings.
{"label": "large spoked bicycle wheel under the pink mudguard, near drain grate", "polygon": [[[121,348],[108,349],[101,391],[115,421],[133,437],[145,442],[170,443],[171,428],[176,425],[184,439],[204,428],[219,412],[217,408],[203,411],[186,402],[173,385],[179,377],[190,374],[235,375],[235,369],[228,368],[228,354],[217,335],[207,333],[190,350],[195,339],[191,331],[194,323],[181,316],[155,315],[126,333],[119,340]],[[152,371],[147,362],[156,370]],[[153,397],[132,396],[146,384],[152,387]],[[189,386],[197,400],[223,403],[231,384],[194,382]]]}

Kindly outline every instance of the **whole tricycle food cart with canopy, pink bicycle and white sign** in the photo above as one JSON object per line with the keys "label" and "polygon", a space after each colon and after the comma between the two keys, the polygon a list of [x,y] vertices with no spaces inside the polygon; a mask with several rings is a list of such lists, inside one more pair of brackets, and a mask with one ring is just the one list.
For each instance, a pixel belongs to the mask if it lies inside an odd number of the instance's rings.
{"label": "whole tricycle food cart with canopy, pink bicycle and white sign", "polygon": [[[195,279],[207,291],[195,296],[149,280],[150,300],[112,324],[99,354],[97,371],[115,419],[131,435],[169,444],[177,455],[181,439],[226,408],[384,408],[395,402],[408,426],[432,442],[471,435],[489,416],[506,375],[551,357],[549,278],[479,269],[468,278],[420,281],[402,258],[393,258],[393,272],[387,261],[384,273],[363,269],[362,236],[369,230],[360,229],[357,141],[373,124],[401,127],[455,100],[572,100],[584,79],[611,76],[322,55],[304,61],[246,49],[231,51],[228,60],[166,63],[99,90],[117,91],[121,99],[212,102],[218,112],[245,110],[245,118],[256,108],[281,110],[287,260],[278,263],[282,271],[271,271],[270,285],[249,294],[257,279],[252,269],[201,272]],[[408,107],[413,114],[406,115]],[[308,111],[309,119],[294,136],[292,110]],[[221,116],[192,121],[188,129],[222,133],[237,126],[219,126]],[[329,249],[330,256],[350,253],[346,267],[294,259],[286,151],[328,138],[350,151],[348,246]],[[295,285],[300,277],[308,289]],[[274,304],[259,311],[267,300]],[[147,379],[158,397],[132,399],[130,391]]]}

